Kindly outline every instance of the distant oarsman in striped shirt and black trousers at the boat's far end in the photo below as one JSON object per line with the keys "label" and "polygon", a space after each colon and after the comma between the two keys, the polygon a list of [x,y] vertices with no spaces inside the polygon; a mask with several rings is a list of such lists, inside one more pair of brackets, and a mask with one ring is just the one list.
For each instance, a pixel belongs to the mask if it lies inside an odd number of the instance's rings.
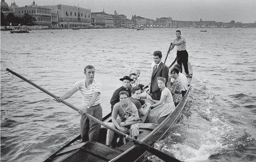
{"label": "distant oarsman in striped shirt and black trousers at the boat's far end", "polygon": [[[177,46],[177,63],[181,66],[181,73],[182,73],[182,64],[187,76],[190,76],[189,69],[187,68],[187,62],[189,61],[189,53],[186,50],[186,40],[185,38],[181,37],[181,31],[176,31],[176,39],[171,43],[172,47],[170,51]],[[170,52],[168,51],[167,54]]]}

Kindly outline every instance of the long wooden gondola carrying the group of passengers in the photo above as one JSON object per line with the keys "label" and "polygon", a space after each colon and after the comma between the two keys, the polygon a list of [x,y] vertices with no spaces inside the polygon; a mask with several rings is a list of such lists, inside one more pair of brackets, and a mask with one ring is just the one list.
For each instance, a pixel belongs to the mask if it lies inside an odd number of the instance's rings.
{"label": "long wooden gondola carrying the group of passengers", "polygon": [[[187,77],[189,89],[182,98],[182,101],[176,106],[175,111],[167,115],[165,120],[161,124],[153,123],[141,123],[139,124],[138,139],[143,143],[152,146],[158,140],[161,140],[163,136],[175,125],[178,117],[180,117],[183,108],[189,98],[191,83],[192,83],[192,68],[189,63],[189,71],[191,76]],[[171,67],[169,67],[171,68]],[[108,114],[103,118],[104,122],[111,120],[111,114]],[[50,155],[45,162],[57,162],[57,161],[138,161],[147,150],[142,146],[134,144],[132,141],[118,146],[117,148],[110,148],[105,144],[107,135],[107,128],[102,126],[99,134],[99,142],[85,141],[81,142],[81,136],[77,136],[75,139],[64,145],[61,149],[57,150],[54,154]]]}

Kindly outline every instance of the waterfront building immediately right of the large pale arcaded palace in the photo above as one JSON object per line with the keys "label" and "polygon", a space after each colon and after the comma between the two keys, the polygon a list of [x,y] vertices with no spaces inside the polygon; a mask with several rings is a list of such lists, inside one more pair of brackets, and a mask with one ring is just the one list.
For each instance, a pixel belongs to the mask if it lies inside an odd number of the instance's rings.
{"label": "waterfront building immediately right of the large pale arcaded palace", "polygon": [[114,18],[104,12],[91,12],[91,25],[94,27],[113,27]]}

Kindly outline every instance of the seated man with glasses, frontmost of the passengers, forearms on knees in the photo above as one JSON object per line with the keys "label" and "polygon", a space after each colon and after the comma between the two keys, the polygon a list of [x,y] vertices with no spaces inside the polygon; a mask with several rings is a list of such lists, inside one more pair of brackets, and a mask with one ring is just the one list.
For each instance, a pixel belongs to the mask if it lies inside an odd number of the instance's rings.
{"label": "seated man with glasses, frontmost of the passengers, forearms on knees", "polygon": [[[127,91],[123,90],[119,93],[120,102],[114,105],[112,111],[112,122],[110,125],[115,129],[122,131],[125,134],[130,134],[133,138],[137,139],[139,135],[138,127],[138,109],[136,106],[129,102],[129,94]],[[129,121],[125,121],[129,117]],[[131,120],[133,118],[133,120]],[[122,124],[121,124],[122,121]],[[106,145],[110,146],[114,138],[114,131],[109,130],[107,132]]]}

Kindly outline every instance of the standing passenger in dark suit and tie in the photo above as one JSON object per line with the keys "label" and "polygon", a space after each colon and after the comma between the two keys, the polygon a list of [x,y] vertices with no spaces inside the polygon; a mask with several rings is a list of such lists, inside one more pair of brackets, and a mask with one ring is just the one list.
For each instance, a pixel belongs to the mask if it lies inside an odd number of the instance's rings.
{"label": "standing passenger in dark suit and tie", "polygon": [[150,93],[151,97],[154,100],[160,100],[161,98],[161,90],[159,89],[157,85],[157,77],[163,77],[166,80],[168,80],[168,73],[169,69],[165,64],[161,62],[162,59],[162,52],[160,50],[157,50],[154,52],[154,67],[153,72],[151,75],[151,85],[150,85]]}

